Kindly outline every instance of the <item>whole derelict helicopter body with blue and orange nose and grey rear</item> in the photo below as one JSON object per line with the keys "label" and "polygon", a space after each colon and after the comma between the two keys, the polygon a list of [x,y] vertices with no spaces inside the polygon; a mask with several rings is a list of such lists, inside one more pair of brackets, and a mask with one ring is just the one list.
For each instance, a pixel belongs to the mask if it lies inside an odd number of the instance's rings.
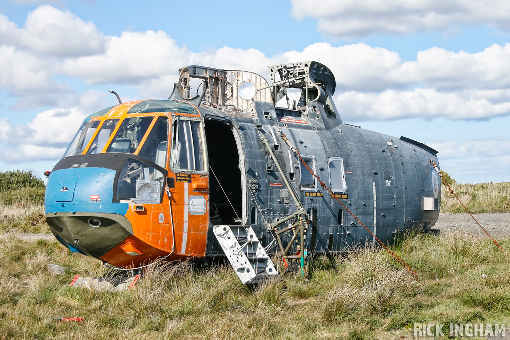
{"label": "whole derelict helicopter body with blue and orange nose and grey rear", "polygon": [[[287,107],[277,103],[281,88],[265,89],[249,72],[243,80],[241,71],[231,79],[254,84],[257,94],[244,99],[231,80],[223,91],[230,98],[214,101],[213,90],[221,90],[214,81],[227,75],[206,69],[198,99],[174,90],[173,99],[124,102],[87,118],[48,177],[46,220],[55,237],[72,251],[132,268],[161,257],[224,256],[217,225],[249,225],[274,253],[275,223],[288,228],[299,205],[308,255],[374,244],[359,221],[385,244],[401,231],[430,229],[441,199],[430,165],[437,152],[343,124],[330,100],[333,75],[313,73],[324,66],[312,63],[305,73],[315,79],[305,85],[299,74],[272,77],[301,88],[304,100]],[[189,77],[193,67],[184,70]],[[279,234],[284,247],[293,230]],[[299,253],[299,243],[289,251]]]}

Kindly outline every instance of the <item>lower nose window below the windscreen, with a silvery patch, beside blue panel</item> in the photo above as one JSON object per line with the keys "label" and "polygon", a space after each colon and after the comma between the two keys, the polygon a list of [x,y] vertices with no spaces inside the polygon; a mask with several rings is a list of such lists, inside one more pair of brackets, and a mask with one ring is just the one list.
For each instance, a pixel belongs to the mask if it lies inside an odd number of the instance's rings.
{"label": "lower nose window below the windscreen, with a silvery patch, beside blue panel", "polygon": [[119,172],[116,197],[118,200],[133,200],[137,203],[161,203],[165,176],[163,168],[130,158]]}

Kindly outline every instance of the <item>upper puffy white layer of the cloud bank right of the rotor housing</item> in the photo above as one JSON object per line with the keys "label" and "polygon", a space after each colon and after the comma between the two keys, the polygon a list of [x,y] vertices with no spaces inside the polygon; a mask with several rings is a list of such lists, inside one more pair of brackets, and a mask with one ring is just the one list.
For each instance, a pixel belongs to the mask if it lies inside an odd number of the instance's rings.
{"label": "upper puffy white layer of the cloud bank right of the rotor housing", "polygon": [[453,91],[510,87],[510,44],[493,44],[478,53],[432,47],[402,63],[395,51],[363,43],[316,43],[283,54],[288,61],[317,60],[335,74],[338,90],[380,92],[422,87]]}

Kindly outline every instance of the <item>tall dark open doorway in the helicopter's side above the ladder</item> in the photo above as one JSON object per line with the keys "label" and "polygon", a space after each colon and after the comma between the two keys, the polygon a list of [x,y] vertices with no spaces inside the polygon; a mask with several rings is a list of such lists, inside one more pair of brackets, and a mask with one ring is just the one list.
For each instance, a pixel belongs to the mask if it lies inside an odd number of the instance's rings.
{"label": "tall dark open doorway in the helicopter's side above the ladder", "polygon": [[239,150],[232,127],[223,121],[205,121],[209,156],[209,217],[211,223],[240,224],[243,197]]}

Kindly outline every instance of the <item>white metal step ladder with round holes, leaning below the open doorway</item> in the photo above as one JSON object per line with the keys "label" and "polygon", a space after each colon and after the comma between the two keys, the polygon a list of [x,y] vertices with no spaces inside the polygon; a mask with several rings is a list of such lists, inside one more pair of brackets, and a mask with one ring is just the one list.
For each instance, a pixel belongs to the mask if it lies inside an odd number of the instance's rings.
{"label": "white metal step ladder with round holes, leaning below the open doorway", "polygon": [[273,261],[249,225],[215,225],[213,232],[241,282],[257,283],[278,276]]}

